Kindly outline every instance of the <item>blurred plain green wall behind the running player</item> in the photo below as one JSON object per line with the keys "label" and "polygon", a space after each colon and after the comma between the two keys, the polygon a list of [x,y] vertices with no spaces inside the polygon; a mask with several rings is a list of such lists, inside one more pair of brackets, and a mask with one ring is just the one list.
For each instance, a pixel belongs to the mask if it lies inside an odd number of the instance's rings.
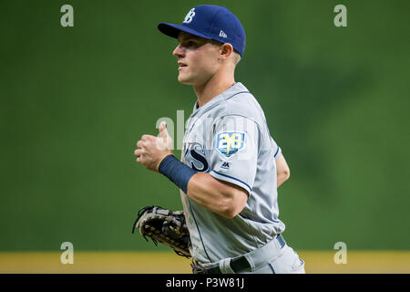
{"label": "blurred plain green wall behind the running player", "polygon": [[[74,27],[60,25],[64,4]],[[179,191],[133,151],[159,118],[190,116],[177,42],[157,24],[200,4],[245,28],[236,80],[291,167],[279,189],[288,243],[409,249],[410,2],[1,0],[0,250],[154,249],[131,235],[138,209],[181,209]],[[338,4],[347,27],[333,25]]]}

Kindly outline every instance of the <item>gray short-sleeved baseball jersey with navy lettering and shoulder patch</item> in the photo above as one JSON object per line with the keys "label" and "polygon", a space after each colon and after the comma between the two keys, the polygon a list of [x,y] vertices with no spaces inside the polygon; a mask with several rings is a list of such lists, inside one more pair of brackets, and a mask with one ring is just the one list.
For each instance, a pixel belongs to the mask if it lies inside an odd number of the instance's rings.
{"label": "gray short-sleeved baseball jersey with navy lettering and shoulder patch", "polygon": [[275,160],[280,154],[261,105],[241,83],[200,108],[195,104],[186,124],[182,162],[249,194],[241,214],[228,219],[181,191],[191,252],[198,262],[243,255],[284,231],[277,203]]}

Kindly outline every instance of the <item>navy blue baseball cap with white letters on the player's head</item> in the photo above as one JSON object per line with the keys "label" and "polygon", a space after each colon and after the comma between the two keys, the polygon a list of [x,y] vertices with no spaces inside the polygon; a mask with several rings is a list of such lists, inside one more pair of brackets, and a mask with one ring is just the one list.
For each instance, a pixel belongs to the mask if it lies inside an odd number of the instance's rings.
{"label": "navy blue baseball cap with white letters on the player's head", "polygon": [[239,19],[226,7],[216,5],[199,5],[190,9],[182,25],[161,22],[160,32],[167,36],[178,38],[179,32],[184,31],[194,36],[230,43],[243,56],[246,36]]}

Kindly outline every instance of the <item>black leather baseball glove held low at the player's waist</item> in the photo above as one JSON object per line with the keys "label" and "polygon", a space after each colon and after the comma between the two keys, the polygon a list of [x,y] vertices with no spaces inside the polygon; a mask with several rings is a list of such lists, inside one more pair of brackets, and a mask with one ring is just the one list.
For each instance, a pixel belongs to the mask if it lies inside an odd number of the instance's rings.
{"label": "black leather baseball glove held low at the player's waist", "polygon": [[172,212],[159,206],[146,206],[138,211],[138,218],[132,227],[132,233],[138,228],[139,233],[151,238],[155,245],[161,243],[171,247],[177,255],[190,257],[190,232],[182,211]]}

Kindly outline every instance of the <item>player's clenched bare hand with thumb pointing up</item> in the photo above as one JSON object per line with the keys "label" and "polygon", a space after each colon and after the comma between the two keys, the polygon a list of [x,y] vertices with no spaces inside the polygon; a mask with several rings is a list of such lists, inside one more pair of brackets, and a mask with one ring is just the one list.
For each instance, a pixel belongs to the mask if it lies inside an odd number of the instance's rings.
{"label": "player's clenched bare hand with thumb pointing up", "polygon": [[137,162],[144,165],[150,171],[158,172],[159,164],[162,160],[173,154],[172,138],[166,128],[165,121],[159,125],[159,137],[152,135],[143,135],[137,142],[138,149],[134,151]]}

